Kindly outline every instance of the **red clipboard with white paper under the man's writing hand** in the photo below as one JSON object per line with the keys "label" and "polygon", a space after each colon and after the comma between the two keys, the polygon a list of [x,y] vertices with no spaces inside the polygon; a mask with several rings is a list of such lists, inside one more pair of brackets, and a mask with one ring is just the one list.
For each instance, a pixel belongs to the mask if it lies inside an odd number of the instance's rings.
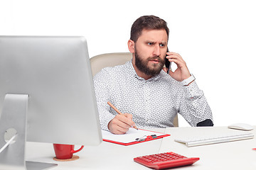
{"label": "red clipboard with white paper under the man's writing hand", "polygon": [[[122,140],[122,137],[125,137],[125,134],[123,136],[122,135],[114,135],[114,134],[111,134],[111,132],[109,132],[109,131],[106,132],[105,130],[102,130],[103,141],[112,142],[112,143],[118,144],[118,145],[129,146],[129,145],[139,144],[142,142],[148,142],[151,140],[157,140],[157,139],[160,139],[163,137],[170,136],[169,134],[166,134],[166,133],[154,132],[151,130],[139,129],[138,132],[137,132],[137,130],[134,130],[133,128],[130,128],[129,130],[132,130],[132,132],[134,132],[134,133],[126,134],[128,136],[130,135],[130,137],[127,138],[128,139],[127,141]],[[107,135],[105,135],[105,134],[107,134]],[[137,140],[137,139],[143,139],[143,140]]]}

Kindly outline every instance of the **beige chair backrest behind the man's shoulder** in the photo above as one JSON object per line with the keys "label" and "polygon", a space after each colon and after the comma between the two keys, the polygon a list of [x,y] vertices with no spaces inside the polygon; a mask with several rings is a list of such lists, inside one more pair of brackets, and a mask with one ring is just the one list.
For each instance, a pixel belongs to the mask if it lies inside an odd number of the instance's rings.
{"label": "beige chair backrest behind the man's shoulder", "polygon": [[[130,60],[132,60],[131,52],[114,52],[91,57],[92,76],[105,67],[114,67]],[[178,127],[178,115],[174,118],[174,127]]]}

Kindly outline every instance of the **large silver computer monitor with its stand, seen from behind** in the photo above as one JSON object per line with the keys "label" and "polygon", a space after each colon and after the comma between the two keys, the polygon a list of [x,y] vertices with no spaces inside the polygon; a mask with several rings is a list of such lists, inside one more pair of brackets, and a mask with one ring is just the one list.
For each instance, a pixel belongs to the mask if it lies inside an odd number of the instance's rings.
{"label": "large silver computer monitor with its stand, seen from behind", "polygon": [[0,169],[26,166],[26,141],[99,145],[85,38],[0,36],[0,111],[0,148],[6,130],[18,134],[0,153]]}

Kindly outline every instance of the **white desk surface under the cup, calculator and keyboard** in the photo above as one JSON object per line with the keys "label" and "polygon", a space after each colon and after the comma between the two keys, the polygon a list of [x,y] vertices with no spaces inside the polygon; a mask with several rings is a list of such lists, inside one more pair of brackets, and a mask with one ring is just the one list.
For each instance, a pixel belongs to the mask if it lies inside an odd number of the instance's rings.
{"label": "white desk surface under the cup, calculator and keyboard", "polygon": [[[84,147],[76,155],[80,159],[73,162],[55,162],[53,145],[48,143],[27,142],[26,160],[33,162],[55,163],[53,170],[58,169],[148,169],[133,161],[134,157],[161,152],[176,152],[186,157],[200,157],[193,166],[178,169],[256,169],[256,139],[226,142],[199,147],[186,147],[174,142],[176,137],[188,134],[203,134],[226,130],[226,127],[211,128],[166,128],[154,131],[169,133],[170,137],[143,142],[137,145],[122,146],[102,142],[98,147]],[[212,131],[213,130],[213,131]],[[255,130],[252,130],[256,136]],[[79,147],[79,146],[78,146]]]}

